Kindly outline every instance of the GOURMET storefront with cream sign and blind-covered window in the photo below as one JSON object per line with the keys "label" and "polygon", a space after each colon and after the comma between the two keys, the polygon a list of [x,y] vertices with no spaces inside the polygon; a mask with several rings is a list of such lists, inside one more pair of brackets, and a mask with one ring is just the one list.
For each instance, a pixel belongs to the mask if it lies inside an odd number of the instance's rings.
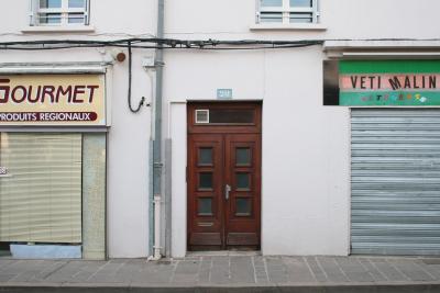
{"label": "GOURMET storefront with cream sign and blind-covered window", "polygon": [[106,258],[105,71],[0,76],[0,244]]}

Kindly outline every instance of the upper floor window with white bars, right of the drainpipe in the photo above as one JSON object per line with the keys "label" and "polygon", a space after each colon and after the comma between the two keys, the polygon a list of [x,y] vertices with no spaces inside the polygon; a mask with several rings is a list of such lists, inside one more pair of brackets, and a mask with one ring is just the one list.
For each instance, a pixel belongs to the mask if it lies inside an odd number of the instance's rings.
{"label": "upper floor window with white bars, right of the drainpipe", "polygon": [[257,0],[257,23],[319,23],[318,0]]}

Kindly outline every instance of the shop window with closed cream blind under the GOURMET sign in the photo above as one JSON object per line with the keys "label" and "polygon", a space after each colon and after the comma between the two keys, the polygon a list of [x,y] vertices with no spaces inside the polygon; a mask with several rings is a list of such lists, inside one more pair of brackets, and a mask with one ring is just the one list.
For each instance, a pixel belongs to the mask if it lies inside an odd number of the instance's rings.
{"label": "shop window with closed cream blind under the GOURMET sign", "polygon": [[1,133],[0,241],[81,243],[81,134]]}

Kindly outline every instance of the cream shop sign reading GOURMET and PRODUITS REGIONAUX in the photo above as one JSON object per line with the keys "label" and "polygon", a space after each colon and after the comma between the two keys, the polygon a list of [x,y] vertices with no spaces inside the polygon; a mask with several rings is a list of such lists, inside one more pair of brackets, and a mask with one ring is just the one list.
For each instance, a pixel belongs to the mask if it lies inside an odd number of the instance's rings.
{"label": "cream shop sign reading GOURMET and PRODUITS REGIONAUX", "polygon": [[103,78],[0,76],[0,125],[106,125]]}

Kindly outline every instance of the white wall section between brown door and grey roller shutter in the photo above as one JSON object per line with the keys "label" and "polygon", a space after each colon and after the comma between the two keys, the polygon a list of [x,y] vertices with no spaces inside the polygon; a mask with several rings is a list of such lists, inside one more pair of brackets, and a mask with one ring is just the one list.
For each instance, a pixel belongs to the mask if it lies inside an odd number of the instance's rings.
{"label": "white wall section between brown door and grey roller shutter", "polygon": [[[320,48],[266,55],[265,255],[349,251],[349,115],[322,105]],[[282,77],[280,77],[282,76]]]}

